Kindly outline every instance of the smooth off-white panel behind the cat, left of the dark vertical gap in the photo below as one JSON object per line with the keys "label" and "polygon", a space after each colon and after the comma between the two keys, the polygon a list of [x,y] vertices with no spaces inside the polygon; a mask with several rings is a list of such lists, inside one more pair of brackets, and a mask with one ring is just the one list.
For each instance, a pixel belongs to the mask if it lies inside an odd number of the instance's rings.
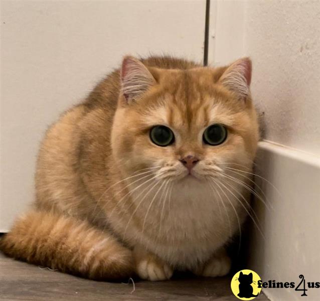
{"label": "smooth off-white panel behind the cat, left of the dark vertical gap", "polygon": [[[203,60],[205,1],[1,2],[1,219],[34,199],[40,139],[125,54]],[[191,22],[192,20],[192,22]]]}

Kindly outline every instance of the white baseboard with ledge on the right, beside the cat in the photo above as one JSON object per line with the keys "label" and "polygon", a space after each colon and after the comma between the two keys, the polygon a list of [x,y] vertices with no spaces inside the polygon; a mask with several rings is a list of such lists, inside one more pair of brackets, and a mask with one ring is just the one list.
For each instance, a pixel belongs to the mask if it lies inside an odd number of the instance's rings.
{"label": "white baseboard with ledge on the right, beside the cat", "polygon": [[[252,226],[249,267],[262,281],[320,281],[320,158],[269,141],[259,143],[256,183],[270,209],[255,200],[265,239]],[[258,189],[256,189],[258,192]],[[302,287],[302,286],[301,286]],[[320,300],[320,288],[264,288],[270,300]]]}

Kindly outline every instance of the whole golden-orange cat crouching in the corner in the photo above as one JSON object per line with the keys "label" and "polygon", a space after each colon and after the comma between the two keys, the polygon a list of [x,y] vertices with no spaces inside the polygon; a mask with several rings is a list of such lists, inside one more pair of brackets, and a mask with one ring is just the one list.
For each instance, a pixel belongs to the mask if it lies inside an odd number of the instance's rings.
{"label": "whole golden-orange cat crouching in the corner", "polygon": [[[224,245],[249,210],[258,141],[251,63],[142,62],[125,58],[47,131],[35,207],[1,242],[7,254],[102,279],[228,272]],[[205,144],[216,123],[226,140]],[[151,141],[156,125],[172,130],[171,145]]]}

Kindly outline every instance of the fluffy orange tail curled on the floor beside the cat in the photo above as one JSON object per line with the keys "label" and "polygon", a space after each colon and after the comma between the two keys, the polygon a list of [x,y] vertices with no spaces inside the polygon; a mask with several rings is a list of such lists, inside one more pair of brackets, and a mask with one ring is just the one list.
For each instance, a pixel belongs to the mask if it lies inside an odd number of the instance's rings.
{"label": "fluffy orange tail curled on the floor beside the cat", "polygon": [[131,251],[85,221],[48,212],[20,218],[0,241],[7,255],[96,280],[133,274]]}

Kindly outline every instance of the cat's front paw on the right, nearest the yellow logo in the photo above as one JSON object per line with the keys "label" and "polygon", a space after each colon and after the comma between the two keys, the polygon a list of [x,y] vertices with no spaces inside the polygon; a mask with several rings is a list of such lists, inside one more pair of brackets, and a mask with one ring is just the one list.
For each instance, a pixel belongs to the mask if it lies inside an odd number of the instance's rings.
{"label": "cat's front paw on the right, nearest the yellow logo", "polygon": [[231,260],[227,254],[219,253],[210,258],[203,266],[194,270],[195,274],[204,277],[225,276],[231,268]]}

